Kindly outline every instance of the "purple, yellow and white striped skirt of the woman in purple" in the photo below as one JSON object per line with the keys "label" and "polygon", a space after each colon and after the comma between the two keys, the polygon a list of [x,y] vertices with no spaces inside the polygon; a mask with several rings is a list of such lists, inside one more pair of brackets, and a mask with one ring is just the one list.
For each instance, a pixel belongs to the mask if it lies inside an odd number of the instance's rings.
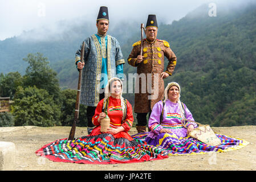
{"label": "purple, yellow and white striped skirt of the woman in purple", "polygon": [[137,142],[147,142],[153,146],[165,148],[169,156],[172,155],[196,155],[209,152],[227,152],[245,147],[249,142],[243,139],[217,134],[222,144],[209,146],[192,137],[177,137],[176,134],[160,133],[155,139],[147,137],[149,132],[132,135]]}

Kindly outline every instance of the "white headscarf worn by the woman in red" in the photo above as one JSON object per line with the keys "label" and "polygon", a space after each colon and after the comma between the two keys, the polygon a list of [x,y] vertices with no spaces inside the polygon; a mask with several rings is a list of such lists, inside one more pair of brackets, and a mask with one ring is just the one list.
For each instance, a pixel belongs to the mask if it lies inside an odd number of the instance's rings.
{"label": "white headscarf worn by the woman in red", "polygon": [[120,83],[121,83],[122,89],[121,89],[121,93],[120,93],[120,100],[121,100],[121,107],[122,107],[122,110],[123,110],[123,118],[122,118],[122,121],[124,121],[124,119],[125,119],[125,115],[124,115],[124,112],[125,112],[125,101],[124,101],[124,98],[122,97],[122,93],[123,93],[123,82],[122,82],[119,78],[113,77],[113,78],[111,78],[110,80],[108,80],[108,84],[107,84],[107,86],[105,87],[105,98],[104,98],[104,102],[103,102],[103,107],[105,108],[107,98],[111,96],[111,92],[110,92],[109,90],[111,90],[111,89],[110,89],[110,86],[111,86],[110,84],[111,84],[111,82],[112,82],[113,80],[118,80],[118,81],[120,81]]}

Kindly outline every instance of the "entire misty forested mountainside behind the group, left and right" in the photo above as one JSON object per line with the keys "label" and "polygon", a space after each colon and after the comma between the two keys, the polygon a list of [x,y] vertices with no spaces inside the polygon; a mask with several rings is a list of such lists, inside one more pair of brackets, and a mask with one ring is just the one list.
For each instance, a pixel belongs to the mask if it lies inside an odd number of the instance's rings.
{"label": "entire misty forested mountainside behind the group, left and right", "polygon": [[[218,7],[213,17],[208,11],[203,5],[172,24],[159,24],[157,38],[168,41],[177,56],[176,69],[165,85],[170,81],[181,85],[181,101],[198,122],[256,125],[256,6]],[[119,40],[126,61],[132,44],[140,40],[140,23],[120,22],[109,30]],[[77,34],[70,30],[52,41],[22,42],[17,37],[0,42],[0,72],[24,73],[27,65],[22,58],[41,52],[58,73],[60,86],[75,89],[74,53],[96,27],[93,23],[72,28]],[[136,68],[126,63],[124,72],[135,73]],[[134,94],[124,95],[133,105]]]}

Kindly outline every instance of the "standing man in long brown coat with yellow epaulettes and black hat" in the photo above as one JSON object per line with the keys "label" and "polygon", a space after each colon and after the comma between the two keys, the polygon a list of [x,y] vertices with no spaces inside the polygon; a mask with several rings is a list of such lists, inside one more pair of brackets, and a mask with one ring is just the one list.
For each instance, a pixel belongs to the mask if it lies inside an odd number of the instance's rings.
{"label": "standing man in long brown coat with yellow epaulettes and black hat", "polygon": [[[150,116],[156,102],[164,98],[164,78],[172,75],[177,62],[169,43],[157,39],[157,30],[156,15],[148,15],[145,27],[147,38],[143,39],[142,55],[141,41],[138,41],[132,45],[128,57],[128,64],[137,67],[135,113],[138,133],[146,132],[147,115],[149,113]],[[169,60],[165,71],[164,56]]]}

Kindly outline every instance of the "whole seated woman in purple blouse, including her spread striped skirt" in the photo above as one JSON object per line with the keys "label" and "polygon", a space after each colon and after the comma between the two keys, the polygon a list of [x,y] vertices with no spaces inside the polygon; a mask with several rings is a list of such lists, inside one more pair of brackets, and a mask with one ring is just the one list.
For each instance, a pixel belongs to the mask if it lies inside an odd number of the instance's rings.
{"label": "whole seated woman in purple blouse, including her spread striped skirt", "polygon": [[[222,144],[209,146],[192,137],[187,137],[197,124],[194,123],[192,113],[188,107],[180,101],[181,88],[176,82],[170,82],[165,88],[165,99],[153,106],[147,133],[140,133],[132,137],[144,140],[153,146],[160,146],[168,150],[169,155],[206,154],[208,152],[225,152],[237,150],[246,146],[249,142],[216,134]],[[188,119],[185,123],[187,129],[182,125],[182,118]]]}

